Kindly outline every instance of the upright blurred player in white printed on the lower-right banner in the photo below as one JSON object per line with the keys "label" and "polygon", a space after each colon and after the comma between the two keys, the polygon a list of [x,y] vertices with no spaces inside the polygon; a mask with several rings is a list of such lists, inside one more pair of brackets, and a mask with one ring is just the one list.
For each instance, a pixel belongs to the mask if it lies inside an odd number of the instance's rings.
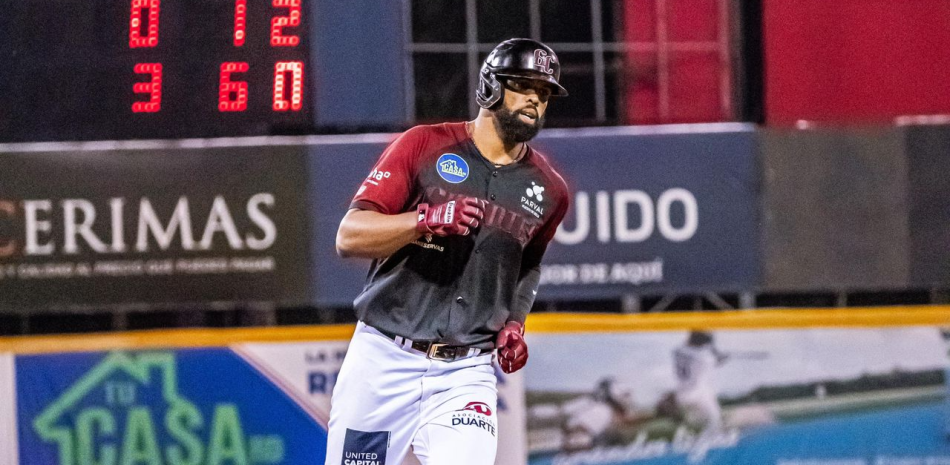
{"label": "upright blurred player in white printed on the lower-right banner", "polygon": [[722,427],[722,409],[715,386],[716,367],[727,355],[713,345],[712,334],[693,331],[686,344],[673,351],[676,402],[686,424],[708,430]]}

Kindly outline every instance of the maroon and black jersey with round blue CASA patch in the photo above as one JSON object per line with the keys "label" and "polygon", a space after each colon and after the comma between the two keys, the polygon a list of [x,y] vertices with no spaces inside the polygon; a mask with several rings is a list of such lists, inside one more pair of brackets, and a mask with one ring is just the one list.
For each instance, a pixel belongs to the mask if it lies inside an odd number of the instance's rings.
{"label": "maroon and black jersey with round blue CASA patch", "polygon": [[488,201],[480,226],[467,236],[425,235],[374,260],[357,317],[413,340],[483,348],[505,322],[524,322],[569,202],[541,153],[529,148],[495,166],[464,123],[416,126],[386,148],[350,207],[397,214],[460,196]]}

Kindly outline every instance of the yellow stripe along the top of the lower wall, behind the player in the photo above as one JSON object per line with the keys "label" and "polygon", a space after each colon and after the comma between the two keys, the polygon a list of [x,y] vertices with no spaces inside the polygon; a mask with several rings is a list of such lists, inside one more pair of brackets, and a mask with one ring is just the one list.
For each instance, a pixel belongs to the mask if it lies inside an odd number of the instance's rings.
{"label": "yellow stripe along the top of the lower wall, behind the player", "polygon": [[[950,326],[950,306],[738,310],[618,314],[539,313],[529,333],[680,331],[811,327]],[[235,329],[163,329],[61,336],[0,337],[0,352],[37,354],[101,350],[221,347],[246,342],[348,340],[353,325]]]}

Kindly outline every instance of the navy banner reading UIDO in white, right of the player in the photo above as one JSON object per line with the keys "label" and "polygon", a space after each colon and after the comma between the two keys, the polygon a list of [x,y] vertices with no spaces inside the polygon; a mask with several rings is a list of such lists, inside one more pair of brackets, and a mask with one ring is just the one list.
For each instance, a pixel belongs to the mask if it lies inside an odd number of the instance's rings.
{"label": "navy banner reading UIDO in white, right of the player", "polygon": [[548,248],[539,298],[748,289],[759,283],[752,126],[695,133],[551,130],[574,193]]}

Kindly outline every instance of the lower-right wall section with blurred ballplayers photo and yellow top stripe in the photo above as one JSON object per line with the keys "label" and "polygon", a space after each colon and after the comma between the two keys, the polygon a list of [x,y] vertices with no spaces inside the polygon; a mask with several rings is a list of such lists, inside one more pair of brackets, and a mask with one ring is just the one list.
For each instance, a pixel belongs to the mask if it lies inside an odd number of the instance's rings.
{"label": "lower-right wall section with blurred ballplayers photo and yellow top stripe", "polygon": [[530,465],[950,464],[946,307],[537,315]]}

